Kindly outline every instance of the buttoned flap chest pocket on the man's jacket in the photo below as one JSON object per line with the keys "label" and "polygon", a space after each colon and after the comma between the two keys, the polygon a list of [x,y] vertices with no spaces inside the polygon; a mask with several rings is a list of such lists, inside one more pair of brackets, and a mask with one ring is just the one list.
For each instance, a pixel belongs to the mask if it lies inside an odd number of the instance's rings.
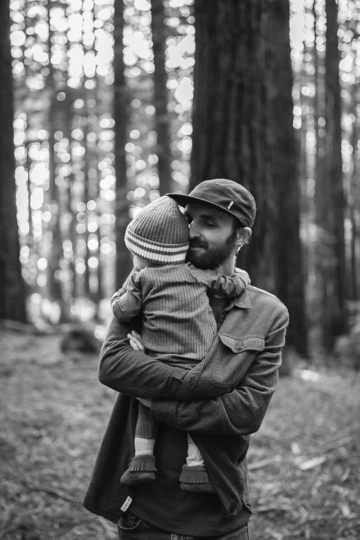
{"label": "buttoned flap chest pocket on the man's jacket", "polygon": [[236,339],[225,334],[219,334],[219,338],[211,381],[215,386],[236,388],[256,354],[264,350],[265,340],[262,336]]}

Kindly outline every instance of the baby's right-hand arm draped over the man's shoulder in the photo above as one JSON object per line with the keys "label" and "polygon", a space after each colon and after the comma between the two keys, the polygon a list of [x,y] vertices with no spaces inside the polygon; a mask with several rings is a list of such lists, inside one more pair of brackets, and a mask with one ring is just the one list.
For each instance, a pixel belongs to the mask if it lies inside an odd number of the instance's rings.
{"label": "baby's right-hand arm draped over the man's shoulder", "polygon": [[235,274],[220,275],[215,270],[201,270],[194,266],[189,268],[202,285],[218,296],[239,296],[250,283],[249,274],[240,269],[236,269]]}

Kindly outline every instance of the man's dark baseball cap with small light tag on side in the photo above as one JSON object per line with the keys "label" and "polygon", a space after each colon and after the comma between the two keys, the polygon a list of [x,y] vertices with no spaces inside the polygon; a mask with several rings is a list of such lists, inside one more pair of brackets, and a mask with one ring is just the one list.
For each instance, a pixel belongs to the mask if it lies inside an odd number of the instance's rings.
{"label": "man's dark baseball cap with small light tag on side", "polygon": [[241,184],[225,178],[205,180],[188,195],[167,193],[180,206],[202,204],[221,210],[237,218],[243,227],[252,227],[256,204],[253,195]]}

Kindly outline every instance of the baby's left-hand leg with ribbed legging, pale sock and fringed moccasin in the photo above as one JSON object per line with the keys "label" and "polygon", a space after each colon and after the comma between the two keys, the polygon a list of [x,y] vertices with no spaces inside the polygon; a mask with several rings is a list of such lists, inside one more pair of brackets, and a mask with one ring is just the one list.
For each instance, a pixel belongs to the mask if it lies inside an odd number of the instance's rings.
{"label": "baby's left-hand leg with ribbed legging, pale sock and fringed moccasin", "polygon": [[127,485],[139,485],[155,479],[155,424],[150,416],[150,409],[139,403],[138,420],[135,428],[135,456],[126,469],[120,482]]}

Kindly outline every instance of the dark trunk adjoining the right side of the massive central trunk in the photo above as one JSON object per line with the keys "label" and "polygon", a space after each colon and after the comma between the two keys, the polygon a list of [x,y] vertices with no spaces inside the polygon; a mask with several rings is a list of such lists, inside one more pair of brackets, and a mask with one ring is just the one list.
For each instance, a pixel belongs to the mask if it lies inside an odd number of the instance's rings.
{"label": "dark trunk adjoining the right side of the massive central trunk", "polygon": [[261,35],[266,70],[267,146],[277,189],[275,291],[289,309],[287,343],[308,355],[304,261],[300,242],[300,187],[293,130],[293,77],[290,62],[289,5],[272,2],[263,11]]}

